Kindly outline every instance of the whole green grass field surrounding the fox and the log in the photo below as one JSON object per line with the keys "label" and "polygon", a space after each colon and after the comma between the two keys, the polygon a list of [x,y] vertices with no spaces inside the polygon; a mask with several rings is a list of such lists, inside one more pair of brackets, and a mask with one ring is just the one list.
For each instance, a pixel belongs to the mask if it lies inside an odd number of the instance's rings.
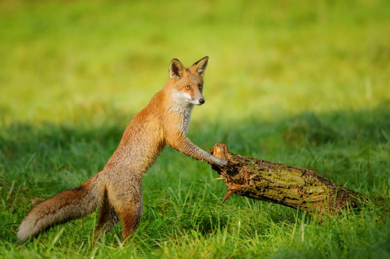
{"label": "whole green grass field surrounding the fox and the log", "polygon": [[[390,216],[323,222],[241,196],[168,148],[128,244],[96,214],[21,243],[38,201],[102,169],[172,58],[208,55],[189,138],[390,199],[390,1],[0,2],[0,257],[389,258]],[[388,204],[390,205],[390,204]]]}

